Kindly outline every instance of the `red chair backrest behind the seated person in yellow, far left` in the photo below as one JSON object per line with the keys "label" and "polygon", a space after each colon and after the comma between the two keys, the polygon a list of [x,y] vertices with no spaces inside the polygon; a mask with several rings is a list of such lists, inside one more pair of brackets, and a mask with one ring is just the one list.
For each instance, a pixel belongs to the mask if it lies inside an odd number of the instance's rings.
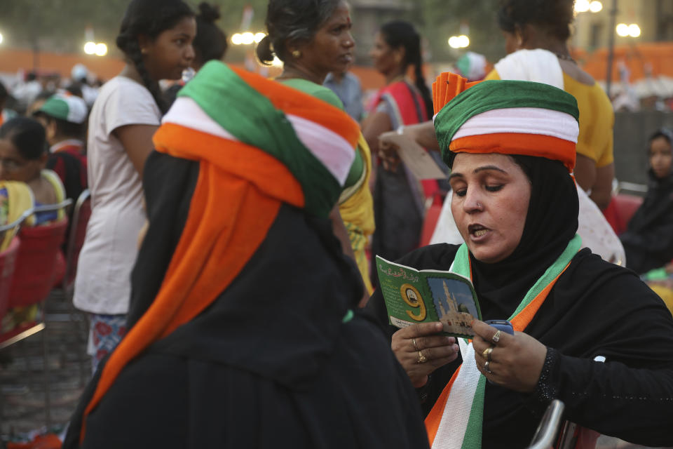
{"label": "red chair backrest behind the seated person in yellow, far left", "polygon": [[57,262],[68,220],[24,227],[9,293],[9,307],[24,307],[45,300],[54,285]]}

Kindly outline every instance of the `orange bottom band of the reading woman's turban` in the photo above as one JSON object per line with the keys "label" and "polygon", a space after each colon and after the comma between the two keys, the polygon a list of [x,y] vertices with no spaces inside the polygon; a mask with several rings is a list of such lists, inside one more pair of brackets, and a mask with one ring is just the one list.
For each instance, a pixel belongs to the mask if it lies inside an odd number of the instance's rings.
{"label": "orange bottom band of the reading woman's turban", "polygon": [[570,172],[575,167],[575,142],[551,135],[526,133],[494,133],[468,135],[451,141],[454,153],[523,154],[562,161]]}

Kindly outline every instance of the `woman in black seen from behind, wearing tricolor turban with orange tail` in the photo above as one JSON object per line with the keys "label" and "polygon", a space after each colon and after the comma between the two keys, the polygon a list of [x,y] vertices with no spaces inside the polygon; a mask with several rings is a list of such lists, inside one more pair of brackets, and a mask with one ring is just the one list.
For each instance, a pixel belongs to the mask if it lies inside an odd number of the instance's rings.
{"label": "woman in black seen from behind, wearing tricolor turban with orange tail", "polygon": [[222,62],[179,92],[144,170],[129,330],[65,448],[427,447],[328,219],[359,135],[337,107]]}

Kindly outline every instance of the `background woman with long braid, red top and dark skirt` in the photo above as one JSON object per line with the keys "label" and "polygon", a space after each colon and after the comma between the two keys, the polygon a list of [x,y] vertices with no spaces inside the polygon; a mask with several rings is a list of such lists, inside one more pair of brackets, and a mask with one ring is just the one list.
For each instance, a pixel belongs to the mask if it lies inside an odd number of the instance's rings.
{"label": "background woman with long braid, red top and dark skirt", "polygon": [[[376,93],[362,122],[362,133],[378,154],[379,135],[429,120],[433,102],[423,79],[421,36],[412,24],[399,20],[383,25],[369,55],[386,77],[386,86]],[[415,81],[407,79],[409,66],[414,67]],[[376,171],[372,253],[395,260],[419,245],[426,199],[435,196],[438,187],[435,180],[419,182],[402,164],[383,168]]]}

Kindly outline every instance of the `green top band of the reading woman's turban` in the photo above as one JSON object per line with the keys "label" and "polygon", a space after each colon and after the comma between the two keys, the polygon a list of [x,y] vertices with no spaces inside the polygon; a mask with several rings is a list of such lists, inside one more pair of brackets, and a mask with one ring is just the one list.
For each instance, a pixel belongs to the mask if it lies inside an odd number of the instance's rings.
{"label": "green top band of the reading woman's turban", "polygon": [[456,95],[435,117],[440,148],[449,148],[454,134],[473,116],[494,109],[538,107],[565,112],[579,121],[577,100],[554,86],[531,81],[491,79]]}

